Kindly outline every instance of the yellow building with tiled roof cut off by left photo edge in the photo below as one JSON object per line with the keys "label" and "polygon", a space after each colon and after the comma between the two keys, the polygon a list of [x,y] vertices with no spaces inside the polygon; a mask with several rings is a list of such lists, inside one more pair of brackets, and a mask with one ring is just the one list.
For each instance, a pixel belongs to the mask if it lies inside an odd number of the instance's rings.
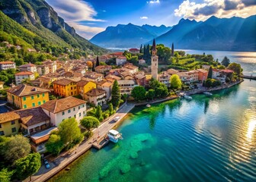
{"label": "yellow building with tiled roof cut off by left photo edge", "polygon": [[21,124],[20,115],[14,111],[0,114],[0,136],[11,136],[18,133]]}

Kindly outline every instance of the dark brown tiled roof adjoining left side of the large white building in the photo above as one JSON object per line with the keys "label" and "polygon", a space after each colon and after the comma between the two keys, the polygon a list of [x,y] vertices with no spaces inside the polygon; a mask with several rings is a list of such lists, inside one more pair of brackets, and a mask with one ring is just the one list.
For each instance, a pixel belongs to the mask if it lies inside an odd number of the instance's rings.
{"label": "dark brown tiled roof adjoining left side of the large white building", "polygon": [[21,109],[14,112],[20,115],[22,124],[26,126],[39,124],[40,122],[43,122],[43,121],[50,121],[49,116],[46,115],[46,113],[40,107]]}

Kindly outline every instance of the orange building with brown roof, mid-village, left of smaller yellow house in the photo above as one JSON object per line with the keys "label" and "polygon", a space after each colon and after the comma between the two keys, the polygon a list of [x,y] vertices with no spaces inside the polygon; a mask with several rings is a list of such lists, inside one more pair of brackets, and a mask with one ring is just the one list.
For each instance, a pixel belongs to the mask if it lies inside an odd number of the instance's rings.
{"label": "orange building with brown roof, mid-village, left of smaller yellow house", "polygon": [[59,96],[64,97],[78,95],[76,82],[66,78],[55,80],[53,82],[53,91]]}

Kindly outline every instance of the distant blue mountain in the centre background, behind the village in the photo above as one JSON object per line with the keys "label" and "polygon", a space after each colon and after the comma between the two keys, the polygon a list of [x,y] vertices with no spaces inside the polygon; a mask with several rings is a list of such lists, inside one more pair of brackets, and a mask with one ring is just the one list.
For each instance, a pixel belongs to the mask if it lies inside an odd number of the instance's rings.
{"label": "distant blue mountain in the centre background, behind the village", "polygon": [[140,27],[134,24],[118,24],[117,27],[107,27],[90,41],[104,48],[139,47],[143,42],[148,42],[168,30],[171,30],[171,27],[164,25],[160,27],[142,25]]}

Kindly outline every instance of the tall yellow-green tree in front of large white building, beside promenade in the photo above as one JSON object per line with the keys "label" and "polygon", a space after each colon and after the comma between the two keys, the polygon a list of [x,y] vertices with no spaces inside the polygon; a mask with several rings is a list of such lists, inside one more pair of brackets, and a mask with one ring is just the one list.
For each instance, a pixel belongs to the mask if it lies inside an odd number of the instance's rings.
{"label": "tall yellow-green tree in front of large white building, beside promenade", "polygon": [[75,118],[66,119],[59,124],[59,136],[67,149],[71,149],[83,140],[81,130]]}

